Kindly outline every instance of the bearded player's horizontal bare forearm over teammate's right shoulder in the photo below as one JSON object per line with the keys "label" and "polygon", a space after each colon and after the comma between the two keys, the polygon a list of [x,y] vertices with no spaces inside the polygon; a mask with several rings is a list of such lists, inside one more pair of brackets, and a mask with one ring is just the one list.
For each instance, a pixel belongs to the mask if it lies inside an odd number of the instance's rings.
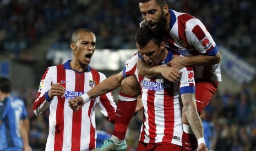
{"label": "bearded player's horizontal bare forearm over teammate's right shoulder", "polygon": [[167,64],[167,66],[181,69],[186,66],[209,66],[219,63],[221,55],[218,52],[215,56],[209,55],[197,55],[197,56],[178,56],[174,55],[173,59]]}

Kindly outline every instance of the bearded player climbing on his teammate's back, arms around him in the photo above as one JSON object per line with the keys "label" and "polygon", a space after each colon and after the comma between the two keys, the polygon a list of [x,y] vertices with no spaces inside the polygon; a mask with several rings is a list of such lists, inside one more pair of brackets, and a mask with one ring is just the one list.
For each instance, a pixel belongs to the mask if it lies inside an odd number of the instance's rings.
{"label": "bearded player climbing on his teammate's back, arms around him", "polygon": [[[194,66],[195,99],[201,114],[221,81],[220,54],[213,38],[200,20],[169,9],[166,0],[139,0],[139,8],[144,19],[141,25],[148,24],[153,32],[164,33],[167,47],[185,56],[174,56],[168,66],[176,69]],[[160,72],[159,67],[150,67],[145,61],[139,60],[138,67],[140,75],[161,74],[172,80],[167,70]],[[192,125],[186,121],[183,123],[183,150],[196,150],[197,140],[190,131]]]}

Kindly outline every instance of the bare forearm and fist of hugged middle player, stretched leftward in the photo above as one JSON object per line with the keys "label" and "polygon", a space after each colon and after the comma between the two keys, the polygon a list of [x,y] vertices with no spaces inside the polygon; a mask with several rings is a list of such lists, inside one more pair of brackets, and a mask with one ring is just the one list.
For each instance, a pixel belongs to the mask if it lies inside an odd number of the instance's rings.
{"label": "bare forearm and fist of hugged middle player, stretched leftward", "polygon": [[[108,92],[121,86],[123,79],[123,72],[114,74],[111,77],[103,80],[99,85],[95,86],[95,88],[86,92],[86,95],[88,95],[88,99],[91,100],[97,96],[107,94]],[[83,107],[84,103],[86,103],[86,101],[84,101],[83,97],[81,96],[70,99],[68,102],[70,108],[72,108],[74,111],[77,111],[79,108]]]}

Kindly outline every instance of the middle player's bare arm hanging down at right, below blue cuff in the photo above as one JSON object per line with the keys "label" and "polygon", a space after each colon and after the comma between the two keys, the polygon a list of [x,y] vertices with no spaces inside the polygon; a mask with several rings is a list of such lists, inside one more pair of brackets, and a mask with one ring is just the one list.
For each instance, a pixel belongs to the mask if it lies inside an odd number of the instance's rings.
{"label": "middle player's bare arm hanging down at right, below blue cuff", "polygon": [[192,93],[182,94],[181,99],[183,103],[182,110],[186,114],[188,123],[191,126],[195,137],[197,137],[197,140],[204,137],[203,125],[195,104],[195,95]]}

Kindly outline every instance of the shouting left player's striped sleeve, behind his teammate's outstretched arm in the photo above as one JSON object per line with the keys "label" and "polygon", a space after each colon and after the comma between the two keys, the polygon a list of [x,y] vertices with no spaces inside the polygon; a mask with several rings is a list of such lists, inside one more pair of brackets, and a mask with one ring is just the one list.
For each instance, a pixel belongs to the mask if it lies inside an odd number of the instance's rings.
{"label": "shouting left player's striped sleeve, behind his teammate's outstretched arm", "polygon": [[[104,74],[100,74],[100,82],[106,79]],[[108,121],[115,124],[116,119],[116,103],[114,102],[114,98],[112,92],[109,92],[105,95],[101,95],[96,98],[99,103],[100,112],[104,114]]]}

